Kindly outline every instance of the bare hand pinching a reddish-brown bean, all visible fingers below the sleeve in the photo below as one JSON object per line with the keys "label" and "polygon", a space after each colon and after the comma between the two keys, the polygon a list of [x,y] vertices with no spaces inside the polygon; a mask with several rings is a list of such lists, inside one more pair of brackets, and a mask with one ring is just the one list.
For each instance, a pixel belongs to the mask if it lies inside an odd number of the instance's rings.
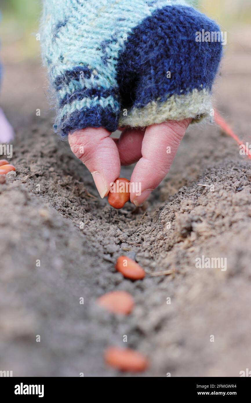
{"label": "bare hand pinching a reddish-brown bean, all visible fingers below the sleeve", "polygon": [[73,153],[91,172],[102,198],[119,177],[120,165],[138,161],[131,182],[141,184],[141,195],[131,193],[131,202],[139,206],[168,173],[190,122],[191,119],[170,120],[145,130],[125,129],[119,139],[112,139],[111,133],[102,127],[88,127],[69,134],[68,141]]}

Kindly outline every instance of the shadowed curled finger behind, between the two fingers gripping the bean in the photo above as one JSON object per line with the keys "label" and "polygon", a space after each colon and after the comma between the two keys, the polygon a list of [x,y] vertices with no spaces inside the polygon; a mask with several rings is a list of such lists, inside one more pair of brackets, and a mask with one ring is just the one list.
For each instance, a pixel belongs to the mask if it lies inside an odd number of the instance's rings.
{"label": "shadowed curled finger behind, between the two fingers gripping the bean", "polygon": [[126,129],[119,139],[114,139],[118,147],[121,165],[131,165],[142,157],[141,147],[145,130]]}

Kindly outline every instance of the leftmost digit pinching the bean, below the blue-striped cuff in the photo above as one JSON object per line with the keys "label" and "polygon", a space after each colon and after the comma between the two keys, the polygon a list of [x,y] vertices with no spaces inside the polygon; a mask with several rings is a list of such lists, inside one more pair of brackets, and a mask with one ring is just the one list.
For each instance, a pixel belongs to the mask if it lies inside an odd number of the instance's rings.
{"label": "leftmost digit pinching the bean, below the blue-striped cuff", "polygon": [[110,134],[102,127],[88,127],[68,135],[71,150],[91,172],[102,198],[120,174],[118,148]]}

